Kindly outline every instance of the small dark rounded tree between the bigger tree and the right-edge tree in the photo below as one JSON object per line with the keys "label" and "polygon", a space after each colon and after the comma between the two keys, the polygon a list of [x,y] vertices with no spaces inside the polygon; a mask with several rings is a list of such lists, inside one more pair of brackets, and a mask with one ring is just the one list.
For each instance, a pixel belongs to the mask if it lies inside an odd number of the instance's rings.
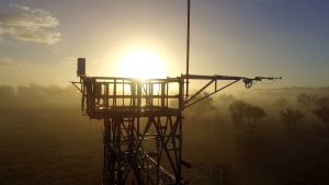
{"label": "small dark rounded tree between the bigger tree and the right-edge tree", "polygon": [[280,117],[283,123],[286,124],[288,131],[295,130],[296,125],[305,114],[298,109],[285,108],[280,112]]}

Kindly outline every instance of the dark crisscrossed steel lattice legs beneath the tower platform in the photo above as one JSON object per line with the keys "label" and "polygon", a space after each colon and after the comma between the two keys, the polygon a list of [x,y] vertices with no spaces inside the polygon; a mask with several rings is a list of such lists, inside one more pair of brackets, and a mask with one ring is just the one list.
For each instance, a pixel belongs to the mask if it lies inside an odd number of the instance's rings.
{"label": "dark crisscrossed steel lattice legs beneath the tower platform", "polygon": [[104,185],[182,184],[181,159],[182,117],[104,119]]}

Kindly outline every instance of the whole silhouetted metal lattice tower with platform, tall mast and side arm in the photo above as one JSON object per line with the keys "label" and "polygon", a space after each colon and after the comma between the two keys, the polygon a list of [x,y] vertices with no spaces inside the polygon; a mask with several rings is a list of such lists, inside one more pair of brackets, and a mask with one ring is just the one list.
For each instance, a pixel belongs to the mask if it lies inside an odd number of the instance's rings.
{"label": "whole silhouetted metal lattice tower with platform, tall mast and side arm", "polygon": [[[103,185],[181,185],[183,113],[189,106],[243,81],[281,78],[197,76],[189,72],[190,0],[188,0],[186,74],[166,79],[86,76],[86,59],[78,58],[81,108],[91,119],[104,122]],[[150,69],[151,70],[151,69]],[[189,94],[192,80],[205,81]],[[220,83],[219,83],[220,81]],[[227,83],[222,83],[227,81]],[[198,95],[207,91],[206,96]]]}

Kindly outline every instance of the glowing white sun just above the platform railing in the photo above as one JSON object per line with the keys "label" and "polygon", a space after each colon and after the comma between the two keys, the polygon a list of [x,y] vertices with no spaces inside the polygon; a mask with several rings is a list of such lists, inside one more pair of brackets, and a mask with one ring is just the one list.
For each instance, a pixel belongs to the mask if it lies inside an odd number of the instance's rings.
{"label": "glowing white sun just above the platform railing", "polygon": [[157,53],[138,48],[124,55],[118,65],[118,74],[137,79],[166,78],[167,68]]}

